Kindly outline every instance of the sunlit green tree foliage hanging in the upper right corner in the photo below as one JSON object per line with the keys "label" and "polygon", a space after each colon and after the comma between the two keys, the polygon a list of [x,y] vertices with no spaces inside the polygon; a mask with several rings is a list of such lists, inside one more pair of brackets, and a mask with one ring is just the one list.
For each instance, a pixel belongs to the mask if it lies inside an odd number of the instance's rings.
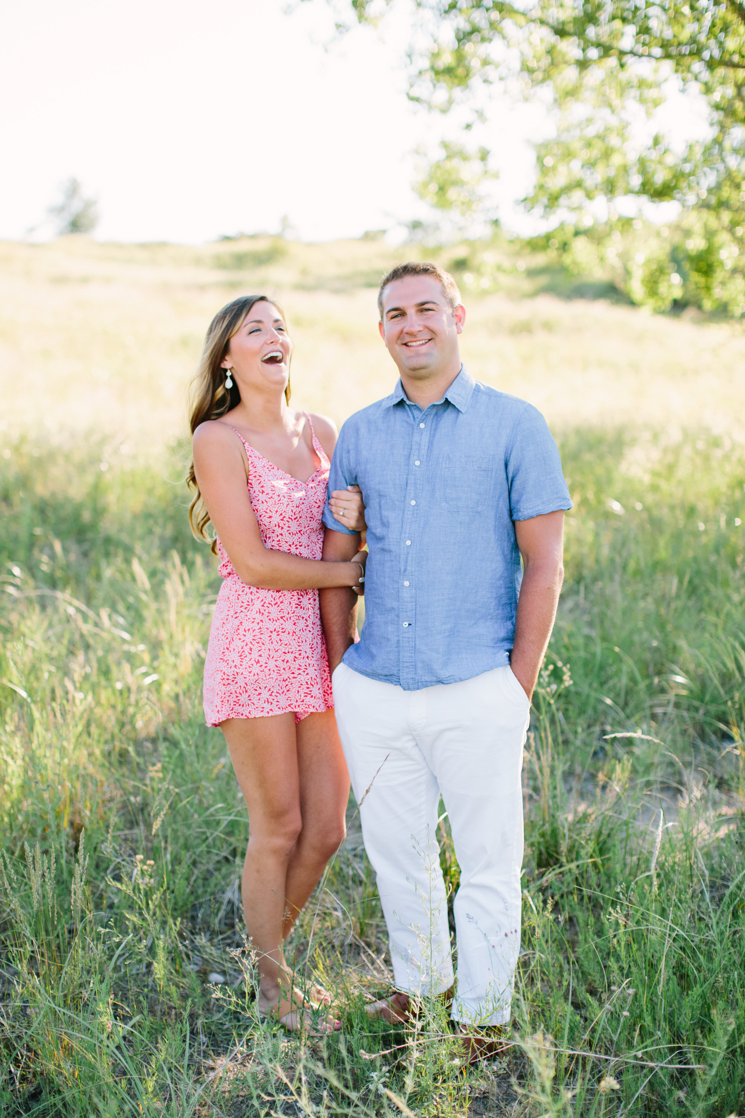
{"label": "sunlit green tree foliage hanging in the upper right corner", "polygon": [[[528,94],[550,96],[556,135],[537,145],[537,181],[524,201],[555,226],[545,244],[570,268],[592,263],[659,309],[688,302],[745,313],[744,3],[414,2],[429,40],[413,55],[412,96],[447,112],[509,73]],[[364,0],[354,7],[370,17]],[[708,106],[708,136],[684,150],[653,132],[666,80]],[[639,214],[660,202],[677,202],[679,216],[639,236]]]}

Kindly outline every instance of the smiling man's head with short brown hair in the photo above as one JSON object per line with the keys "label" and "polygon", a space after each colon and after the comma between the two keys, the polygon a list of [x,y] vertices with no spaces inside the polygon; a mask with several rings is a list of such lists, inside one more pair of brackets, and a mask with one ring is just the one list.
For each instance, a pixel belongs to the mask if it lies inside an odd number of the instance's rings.
{"label": "smiling man's head with short brown hair", "polygon": [[458,334],[466,310],[449,305],[439,280],[403,276],[388,284],[382,301],[380,335],[402,375],[426,378],[460,363]]}

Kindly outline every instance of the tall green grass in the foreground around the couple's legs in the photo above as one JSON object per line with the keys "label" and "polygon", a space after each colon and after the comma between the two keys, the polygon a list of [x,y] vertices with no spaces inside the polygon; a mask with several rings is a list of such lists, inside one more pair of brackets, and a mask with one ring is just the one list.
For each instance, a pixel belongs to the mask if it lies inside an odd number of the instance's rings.
{"label": "tall green grass in the foreground around the couple's legs", "polygon": [[256,1017],[246,812],[201,717],[219,579],[179,449],[157,470],[0,459],[3,1112],[745,1109],[745,461],[707,435],[574,432],[562,453],[576,508],[526,750],[513,1034],[480,1069],[437,1004],[398,1032],[364,1013],[390,972],[353,804],[290,945],[344,1031]]}

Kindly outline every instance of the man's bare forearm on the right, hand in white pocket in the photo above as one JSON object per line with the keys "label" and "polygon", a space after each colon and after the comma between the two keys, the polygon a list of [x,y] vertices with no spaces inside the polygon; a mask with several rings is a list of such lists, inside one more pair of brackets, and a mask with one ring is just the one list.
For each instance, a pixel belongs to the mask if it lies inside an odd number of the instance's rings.
{"label": "man's bare forearm on the right, hand in white pocket", "polygon": [[[528,697],[533,694],[541,664],[546,654],[563,578],[563,568],[555,562],[531,563],[525,568],[523,575],[517,601],[515,643],[509,663]],[[324,590],[322,593],[337,594],[340,591]],[[350,593],[354,594],[353,590]]]}

